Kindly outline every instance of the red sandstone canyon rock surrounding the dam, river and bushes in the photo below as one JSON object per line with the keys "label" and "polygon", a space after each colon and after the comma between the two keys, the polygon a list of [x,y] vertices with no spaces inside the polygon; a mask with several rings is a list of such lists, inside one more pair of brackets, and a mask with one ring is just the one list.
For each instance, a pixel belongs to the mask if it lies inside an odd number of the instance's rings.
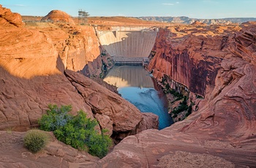
{"label": "red sandstone canyon rock surrounding the dam, river and bushes", "polygon": [[[25,24],[19,14],[0,5],[1,165],[255,167],[255,22],[170,27],[143,22],[159,28],[148,71],[159,82],[167,77],[170,88],[186,91],[188,101],[195,103],[184,121],[159,131],[157,115],[141,113],[100,80],[113,61],[94,27],[66,20]],[[98,22],[112,25],[94,20]],[[124,18],[114,23],[131,25]],[[23,147],[24,131],[37,126],[48,104],[71,104],[72,115],[85,111],[118,144],[98,159],[48,133],[47,148],[29,153]]]}

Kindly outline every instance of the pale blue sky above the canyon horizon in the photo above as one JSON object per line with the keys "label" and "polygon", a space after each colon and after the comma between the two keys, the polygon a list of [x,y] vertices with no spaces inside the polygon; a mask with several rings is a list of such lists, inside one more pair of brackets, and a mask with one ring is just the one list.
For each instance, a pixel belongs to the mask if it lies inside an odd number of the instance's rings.
{"label": "pale blue sky above the canyon horizon", "polygon": [[0,0],[20,15],[45,16],[53,9],[77,16],[188,16],[189,18],[256,18],[256,0]]}

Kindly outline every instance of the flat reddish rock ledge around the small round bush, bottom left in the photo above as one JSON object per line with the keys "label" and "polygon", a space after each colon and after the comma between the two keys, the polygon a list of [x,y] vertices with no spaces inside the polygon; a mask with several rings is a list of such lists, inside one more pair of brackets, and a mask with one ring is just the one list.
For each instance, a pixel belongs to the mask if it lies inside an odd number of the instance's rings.
{"label": "flat reddish rock ledge around the small round bush, bottom left", "polygon": [[0,131],[1,167],[97,167],[99,158],[59,142],[50,132],[45,133],[50,142],[34,154],[23,146],[26,132]]}

